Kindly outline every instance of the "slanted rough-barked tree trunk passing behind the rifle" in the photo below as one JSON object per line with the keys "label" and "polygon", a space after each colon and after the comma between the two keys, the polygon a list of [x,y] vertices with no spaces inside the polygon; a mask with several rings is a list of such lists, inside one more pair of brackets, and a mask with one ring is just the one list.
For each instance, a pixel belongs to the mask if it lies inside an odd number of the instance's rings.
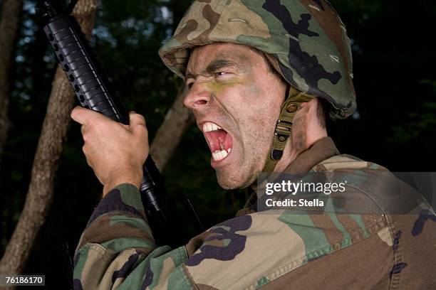
{"label": "slanted rough-barked tree trunk passing behind the rifle", "polygon": [[[97,4],[98,0],[79,0],[73,11],[73,15],[76,16],[88,38],[93,28]],[[33,160],[26,202],[11,240],[6,246],[4,256],[1,258],[0,274],[23,272],[33,241],[46,220],[48,208],[53,200],[53,183],[63,142],[71,122],[70,112],[73,104],[73,90],[63,70],[58,66]]]}

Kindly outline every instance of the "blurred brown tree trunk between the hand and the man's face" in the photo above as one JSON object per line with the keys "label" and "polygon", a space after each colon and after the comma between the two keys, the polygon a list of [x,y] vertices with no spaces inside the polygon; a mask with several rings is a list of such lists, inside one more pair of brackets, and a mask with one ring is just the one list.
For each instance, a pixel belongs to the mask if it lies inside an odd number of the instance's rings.
{"label": "blurred brown tree trunk between the hand and the man's face", "polygon": [[150,146],[150,154],[160,171],[163,171],[167,162],[170,161],[170,157],[180,143],[186,129],[194,123],[194,116],[183,105],[186,94],[187,90],[184,85],[167,112],[164,122],[157,130],[155,139]]}

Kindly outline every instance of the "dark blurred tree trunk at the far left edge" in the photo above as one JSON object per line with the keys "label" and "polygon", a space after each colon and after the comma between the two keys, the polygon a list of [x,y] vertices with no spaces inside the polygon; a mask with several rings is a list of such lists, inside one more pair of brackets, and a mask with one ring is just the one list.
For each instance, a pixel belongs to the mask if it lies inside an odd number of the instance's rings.
{"label": "dark blurred tree trunk at the far left edge", "polygon": [[11,69],[12,50],[23,0],[6,0],[1,10],[0,22],[0,160],[9,129],[9,70]]}

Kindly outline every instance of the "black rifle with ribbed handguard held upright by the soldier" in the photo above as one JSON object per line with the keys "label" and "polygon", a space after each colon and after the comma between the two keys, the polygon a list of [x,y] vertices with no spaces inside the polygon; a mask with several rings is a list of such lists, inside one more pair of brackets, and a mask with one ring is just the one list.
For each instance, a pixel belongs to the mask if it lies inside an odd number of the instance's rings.
{"label": "black rifle with ribbed handguard held upright by the soldier", "polygon": [[[43,31],[81,106],[128,124],[128,117],[116,102],[118,99],[101,73],[88,41],[76,19],[70,15],[76,1],[65,7],[59,0],[40,0],[37,10],[43,21]],[[172,206],[165,198],[162,176],[150,155],[142,169],[140,194],[156,244],[170,245],[172,248],[185,245],[186,233],[181,232],[182,227],[177,225],[180,219],[174,216]],[[180,201],[196,229],[202,230],[202,222],[190,200],[182,197]]]}

